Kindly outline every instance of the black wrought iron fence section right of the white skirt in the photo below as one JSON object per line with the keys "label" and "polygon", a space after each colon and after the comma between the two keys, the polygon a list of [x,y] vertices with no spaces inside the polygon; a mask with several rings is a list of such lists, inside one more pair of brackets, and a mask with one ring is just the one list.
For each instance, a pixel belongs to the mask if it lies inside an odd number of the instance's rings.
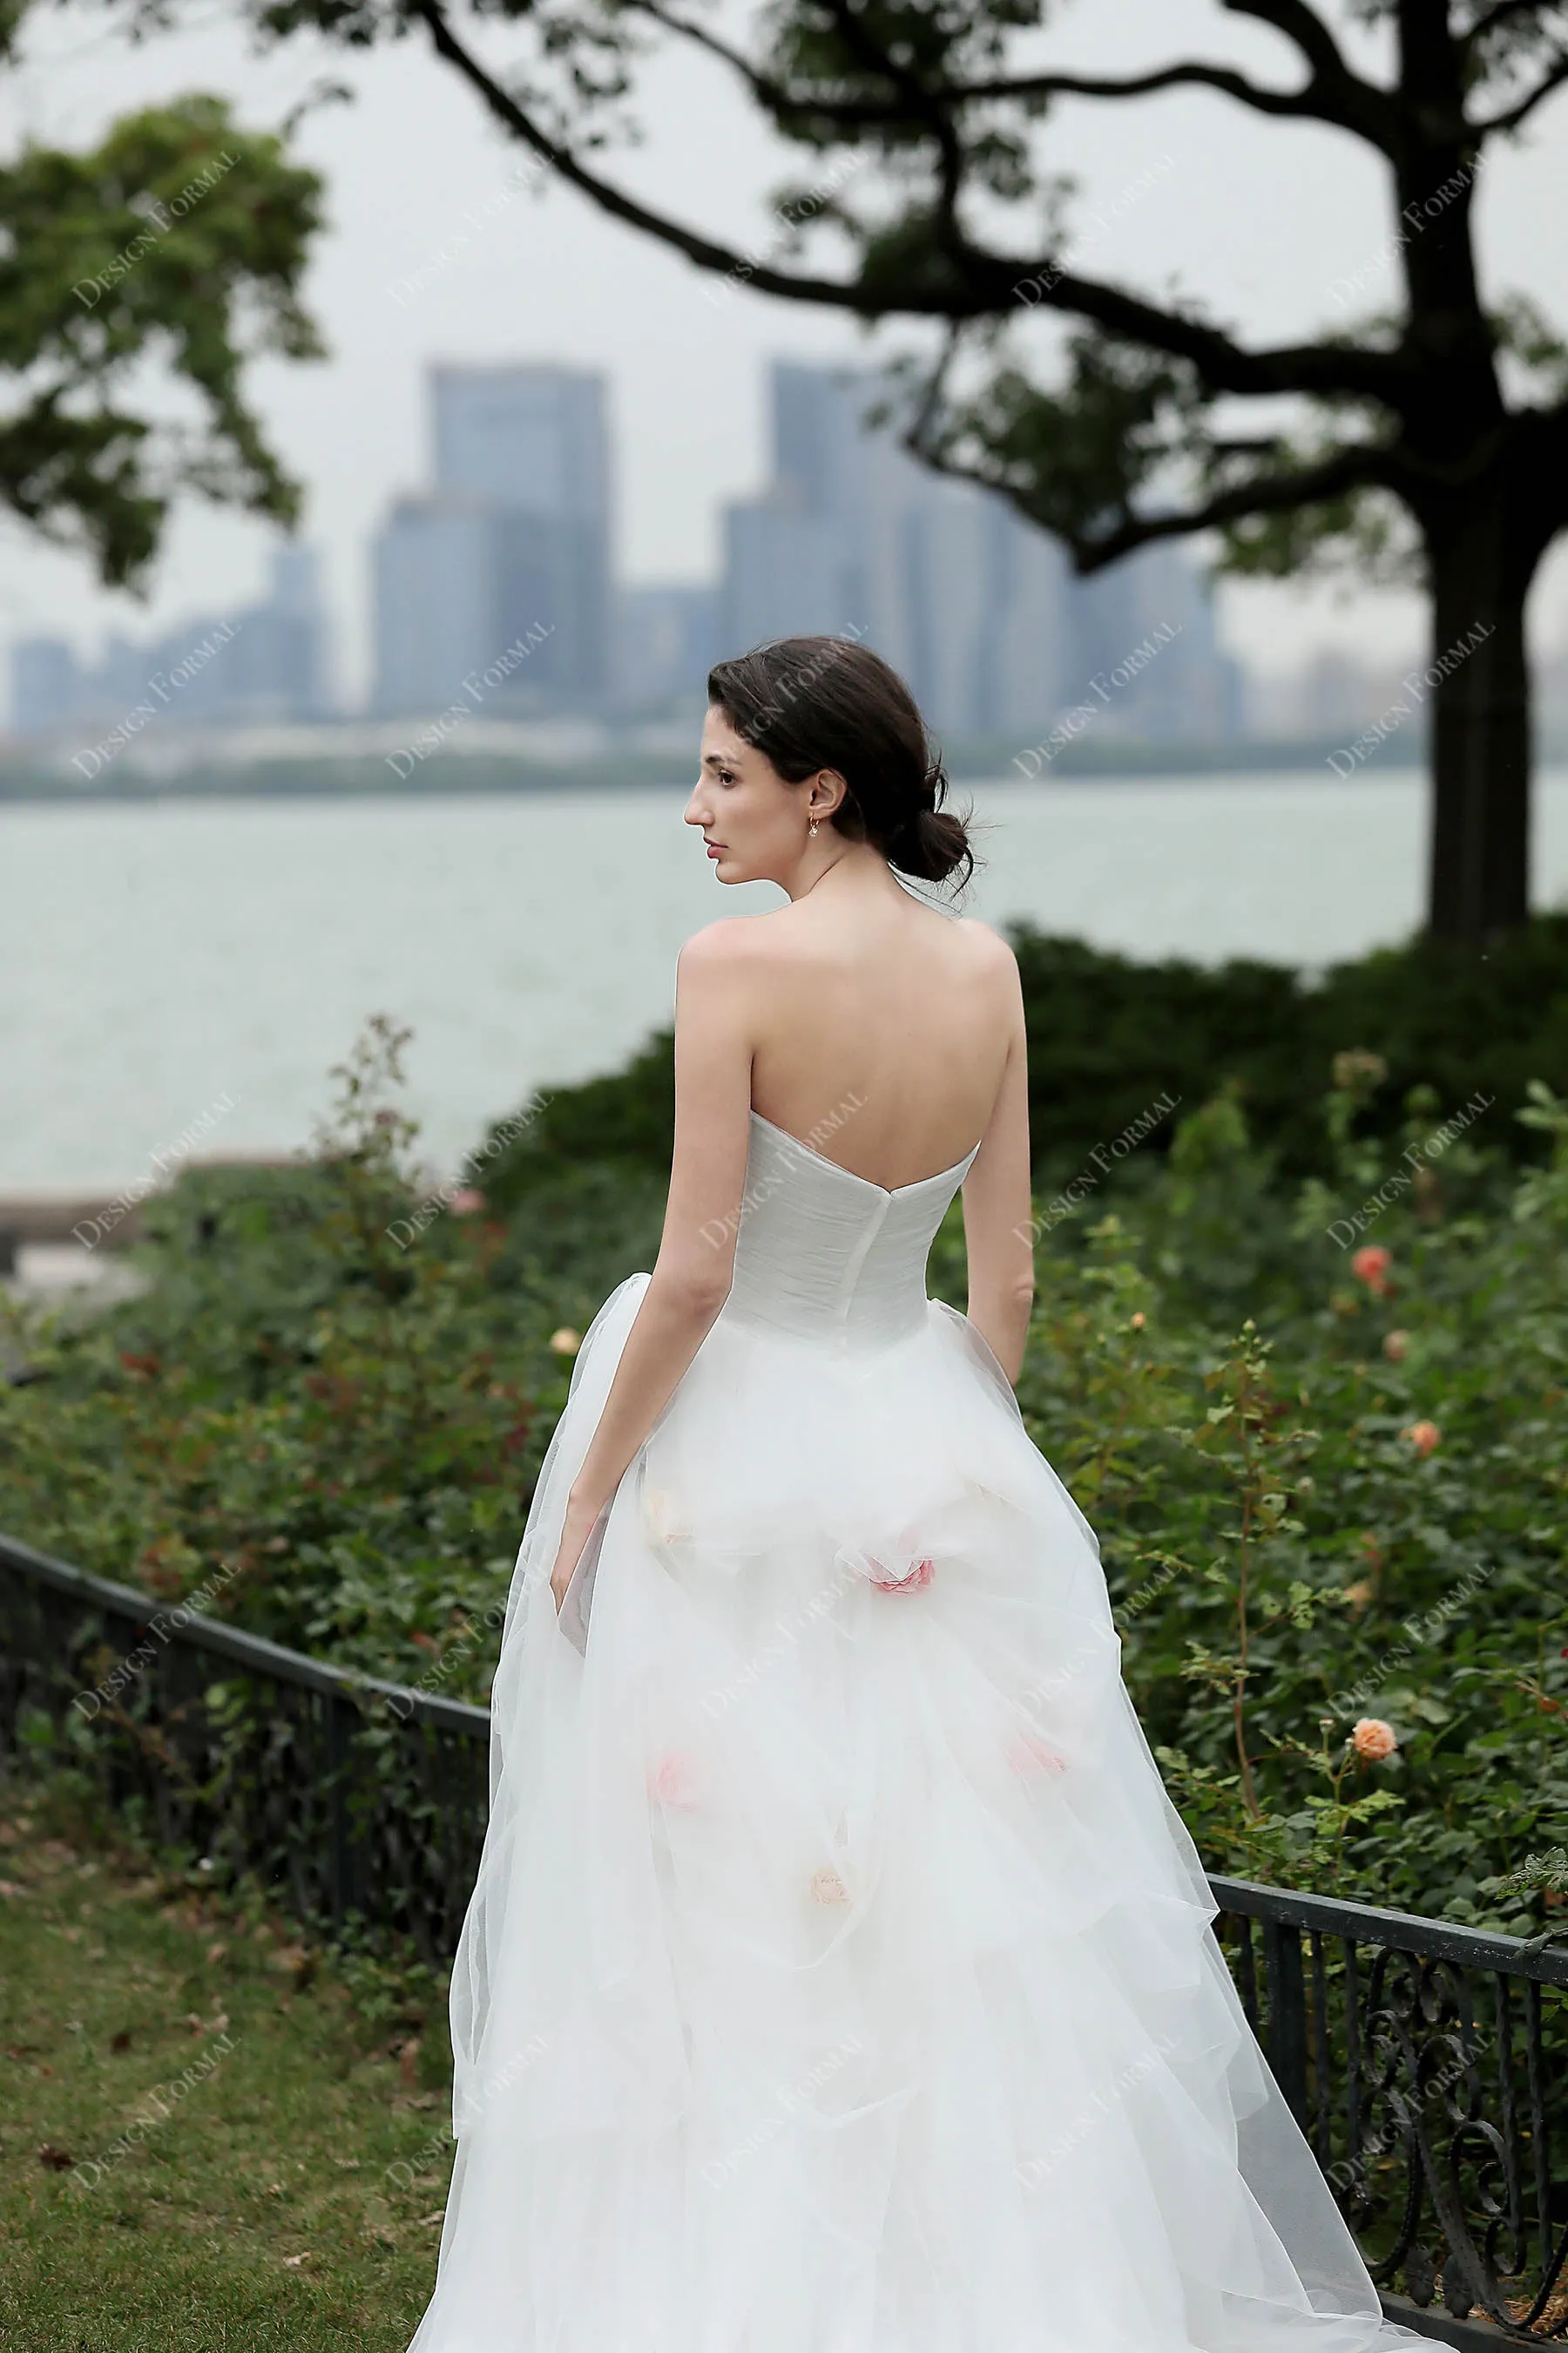
{"label": "black wrought iron fence section right of the white skirt", "polygon": [[1432,2334],[1455,2344],[1481,2341],[1455,2327],[1472,2315],[1568,2334],[1568,1951],[1208,1885],[1241,2005],[1385,2304],[1422,2325],[1441,2294]]}

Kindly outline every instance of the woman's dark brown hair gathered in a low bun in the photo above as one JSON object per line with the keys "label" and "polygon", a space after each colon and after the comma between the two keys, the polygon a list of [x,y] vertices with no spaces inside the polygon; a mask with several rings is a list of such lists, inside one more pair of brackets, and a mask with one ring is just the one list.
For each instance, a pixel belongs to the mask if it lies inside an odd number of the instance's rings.
{"label": "woman's dark brown hair gathered in a low bun", "polygon": [[719,661],[708,701],[785,784],[832,767],[846,784],[832,824],[917,882],[945,882],[976,859],[964,819],[943,809],[947,769],[914,696],[882,654],[853,638],[773,638]]}

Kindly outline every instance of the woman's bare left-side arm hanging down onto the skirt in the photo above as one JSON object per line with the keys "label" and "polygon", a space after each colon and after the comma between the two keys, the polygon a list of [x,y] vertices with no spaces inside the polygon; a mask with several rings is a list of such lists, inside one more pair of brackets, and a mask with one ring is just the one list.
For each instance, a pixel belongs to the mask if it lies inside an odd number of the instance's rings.
{"label": "woman's bare left-side arm hanging down onto the skirt", "polygon": [[550,1574],[557,1609],[595,1520],[729,1297],[750,1146],[748,998],[733,922],[715,922],[686,941],[675,965],[675,1155],[665,1226],[604,1412],[567,1499]]}

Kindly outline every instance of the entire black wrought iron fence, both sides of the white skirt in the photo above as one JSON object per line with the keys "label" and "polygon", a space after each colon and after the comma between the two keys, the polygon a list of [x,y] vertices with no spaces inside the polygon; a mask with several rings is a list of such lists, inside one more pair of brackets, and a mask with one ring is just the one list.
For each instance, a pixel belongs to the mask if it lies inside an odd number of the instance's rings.
{"label": "entire black wrought iron fence, both sides of the white skirt", "polygon": [[[0,1537],[0,1755],[28,1715],[169,1845],[308,1927],[449,1960],[489,1795],[489,1711],[160,1609]],[[1568,1951],[1211,1880],[1246,2014],[1382,2292],[1479,2353],[1568,2334]],[[1436,2299],[1441,2297],[1441,2311]]]}

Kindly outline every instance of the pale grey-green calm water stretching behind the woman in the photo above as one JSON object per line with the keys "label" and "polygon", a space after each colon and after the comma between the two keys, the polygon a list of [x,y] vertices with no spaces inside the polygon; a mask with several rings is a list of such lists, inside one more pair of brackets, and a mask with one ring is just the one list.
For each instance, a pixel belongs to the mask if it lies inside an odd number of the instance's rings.
{"label": "pale grey-green calm water stretching behind the woman", "polygon": [[[1415,774],[973,786],[966,908],[1133,955],[1326,962],[1410,932]],[[515,800],[0,812],[0,1193],[115,1188],[205,1151],[289,1151],[371,1012],[414,1028],[411,1108],[451,1167],[529,1087],[670,1019],[724,889],[684,788]],[[1568,772],[1537,805],[1537,904],[1568,899]],[[228,1096],[230,1111],[221,1104]]]}

